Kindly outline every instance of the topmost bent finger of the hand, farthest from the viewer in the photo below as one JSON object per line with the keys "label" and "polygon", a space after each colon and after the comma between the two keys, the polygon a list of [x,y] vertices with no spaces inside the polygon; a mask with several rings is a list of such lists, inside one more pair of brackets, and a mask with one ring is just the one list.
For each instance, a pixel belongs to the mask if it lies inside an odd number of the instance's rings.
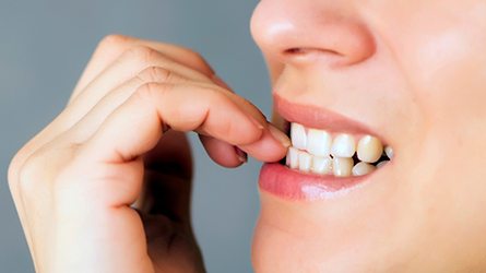
{"label": "topmost bent finger of the hand, farthest from the viewer", "polygon": [[206,76],[214,74],[213,69],[208,62],[200,55],[188,48],[154,40],[138,39],[129,36],[109,35],[99,43],[92,59],[87,63],[83,75],[76,84],[70,100],[76,97],[90,82],[92,82],[125,51],[133,47],[153,48],[165,56],[169,56],[175,62],[179,62],[197,70]]}

